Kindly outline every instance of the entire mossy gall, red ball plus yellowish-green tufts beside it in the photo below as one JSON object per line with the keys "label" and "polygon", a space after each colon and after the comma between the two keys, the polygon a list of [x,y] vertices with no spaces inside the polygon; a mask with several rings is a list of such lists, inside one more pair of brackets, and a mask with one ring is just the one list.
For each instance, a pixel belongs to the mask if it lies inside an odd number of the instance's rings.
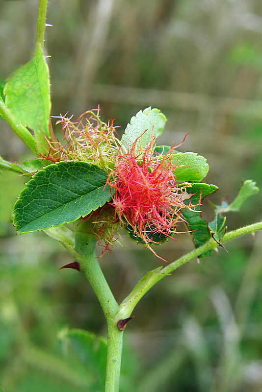
{"label": "entire mossy gall, red ball plus yellowish-green tufts beside it", "polygon": [[50,142],[50,154],[44,157],[52,162],[84,161],[108,173],[112,200],[82,218],[92,223],[98,244],[108,249],[116,241],[115,232],[124,227],[133,240],[159,257],[151,245],[173,237],[178,223],[184,221],[183,209],[194,207],[184,203],[191,196],[187,193],[190,184],[176,180],[176,169],[181,166],[173,155],[180,145],[155,151],[153,134],[144,146],[145,130],[127,147],[117,139],[113,121],[105,124],[100,120],[99,109],[97,114],[83,113],[76,121],[72,117],[58,119],[65,143]]}

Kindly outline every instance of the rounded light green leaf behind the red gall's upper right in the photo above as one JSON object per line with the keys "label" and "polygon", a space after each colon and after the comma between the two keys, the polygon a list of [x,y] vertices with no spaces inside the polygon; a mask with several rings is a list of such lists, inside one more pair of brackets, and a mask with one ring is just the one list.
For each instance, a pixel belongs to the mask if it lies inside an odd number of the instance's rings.
{"label": "rounded light green leaf behind the red gall's upper right", "polygon": [[195,152],[179,152],[173,154],[173,163],[177,168],[175,175],[178,181],[199,182],[208,174],[209,165],[206,158]]}

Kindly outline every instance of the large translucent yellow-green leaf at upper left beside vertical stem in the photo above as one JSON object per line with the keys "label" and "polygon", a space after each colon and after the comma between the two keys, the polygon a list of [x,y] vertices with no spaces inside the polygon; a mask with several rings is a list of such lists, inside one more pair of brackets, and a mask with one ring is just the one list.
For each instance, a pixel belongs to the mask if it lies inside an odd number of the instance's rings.
{"label": "large translucent yellow-green leaf at upper left beside vertical stem", "polygon": [[32,60],[8,77],[4,95],[6,106],[18,123],[50,137],[49,71],[40,45]]}

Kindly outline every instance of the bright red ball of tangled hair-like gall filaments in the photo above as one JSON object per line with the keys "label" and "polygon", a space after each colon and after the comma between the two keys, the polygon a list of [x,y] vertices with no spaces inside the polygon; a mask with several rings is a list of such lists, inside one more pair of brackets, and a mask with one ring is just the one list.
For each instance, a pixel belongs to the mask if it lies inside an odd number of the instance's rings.
{"label": "bright red ball of tangled hair-like gall filaments", "polygon": [[140,152],[134,144],[129,152],[117,155],[108,179],[116,216],[150,249],[172,237],[183,221],[181,211],[192,207],[183,202],[190,185],[176,181],[173,149],[157,154],[154,142],[152,138]]}

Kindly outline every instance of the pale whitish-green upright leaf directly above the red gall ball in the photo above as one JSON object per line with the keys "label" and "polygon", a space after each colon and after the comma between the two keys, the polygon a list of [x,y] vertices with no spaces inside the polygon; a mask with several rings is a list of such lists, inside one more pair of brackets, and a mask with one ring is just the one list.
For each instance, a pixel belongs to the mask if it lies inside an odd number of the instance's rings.
{"label": "pale whitish-green upright leaf directly above the red gall ball", "polygon": [[[136,139],[139,138],[135,147],[137,149],[144,147],[151,140],[152,136],[157,137],[162,133],[165,122],[166,117],[159,109],[147,107],[143,111],[140,110],[131,118],[125,129],[121,139],[123,146],[129,150]],[[142,134],[143,136],[141,136]]]}

